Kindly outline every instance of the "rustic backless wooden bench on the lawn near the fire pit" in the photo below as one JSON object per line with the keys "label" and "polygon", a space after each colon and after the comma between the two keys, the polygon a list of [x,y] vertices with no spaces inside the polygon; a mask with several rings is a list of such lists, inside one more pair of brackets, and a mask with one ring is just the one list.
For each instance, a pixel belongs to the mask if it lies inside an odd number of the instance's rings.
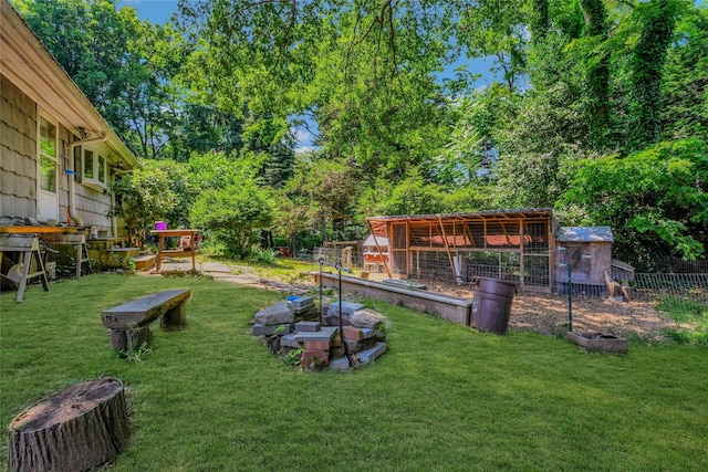
{"label": "rustic backless wooden bench on the lawn near the fire pit", "polygon": [[191,290],[168,290],[134,300],[101,313],[103,325],[111,331],[111,346],[127,353],[144,343],[153,343],[149,324],[160,319],[162,327],[179,328],[187,321],[187,298]]}

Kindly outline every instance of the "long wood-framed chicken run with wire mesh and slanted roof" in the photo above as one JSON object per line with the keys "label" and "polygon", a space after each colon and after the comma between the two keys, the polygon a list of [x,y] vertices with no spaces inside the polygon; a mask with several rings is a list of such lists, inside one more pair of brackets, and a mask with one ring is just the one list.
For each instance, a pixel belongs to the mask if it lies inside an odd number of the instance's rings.
{"label": "long wood-framed chicken run with wire mesh and slanted roof", "polygon": [[[434,276],[451,276],[459,284],[491,276],[527,291],[554,289],[556,223],[551,209],[372,217],[366,223],[375,242],[388,240],[389,277],[425,276],[423,265],[436,260],[441,269]],[[480,259],[483,265],[473,263]],[[476,268],[487,272],[476,273]]]}

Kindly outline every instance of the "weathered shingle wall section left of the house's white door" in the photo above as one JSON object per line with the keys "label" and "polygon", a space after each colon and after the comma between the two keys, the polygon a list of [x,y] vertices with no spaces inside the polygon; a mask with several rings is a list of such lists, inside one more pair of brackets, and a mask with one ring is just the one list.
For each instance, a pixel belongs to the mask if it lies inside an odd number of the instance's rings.
{"label": "weathered shingle wall section left of the house's white door", "polygon": [[0,75],[0,217],[37,214],[37,105]]}

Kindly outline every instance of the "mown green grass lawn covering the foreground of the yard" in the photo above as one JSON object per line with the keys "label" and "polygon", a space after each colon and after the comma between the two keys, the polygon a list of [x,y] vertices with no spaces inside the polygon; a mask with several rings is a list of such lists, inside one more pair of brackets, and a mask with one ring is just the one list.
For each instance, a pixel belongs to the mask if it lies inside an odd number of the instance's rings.
{"label": "mown green grass lawn covering the foreground of the yard", "polygon": [[[117,359],[101,311],[180,287],[192,289],[186,329],[156,323],[142,361]],[[277,293],[101,274],[14,296],[0,294],[3,428],[72,382],[118,377],[133,436],[115,471],[708,470],[705,346],[585,354],[372,302],[388,352],[353,373],[303,374],[249,335]]]}

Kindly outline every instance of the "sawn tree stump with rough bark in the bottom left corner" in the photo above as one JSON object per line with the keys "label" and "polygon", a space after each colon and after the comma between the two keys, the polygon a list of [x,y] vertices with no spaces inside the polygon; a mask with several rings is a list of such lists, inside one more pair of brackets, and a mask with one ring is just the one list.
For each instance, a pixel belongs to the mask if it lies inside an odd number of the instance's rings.
{"label": "sawn tree stump with rough bark in the bottom left corner", "polygon": [[18,415],[9,432],[10,471],[77,472],[111,463],[129,437],[123,384],[73,385]]}

